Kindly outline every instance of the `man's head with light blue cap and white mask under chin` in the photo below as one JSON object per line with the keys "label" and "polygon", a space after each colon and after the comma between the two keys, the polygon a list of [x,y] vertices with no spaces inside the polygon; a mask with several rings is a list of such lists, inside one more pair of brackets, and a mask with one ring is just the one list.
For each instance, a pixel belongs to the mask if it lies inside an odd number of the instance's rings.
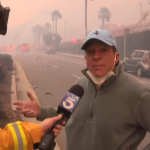
{"label": "man's head with light blue cap and white mask under chin", "polygon": [[88,75],[100,86],[114,74],[113,69],[119,62],[115,39],[110,32],[99,29],[87,36],[81,49],[85,50]]}

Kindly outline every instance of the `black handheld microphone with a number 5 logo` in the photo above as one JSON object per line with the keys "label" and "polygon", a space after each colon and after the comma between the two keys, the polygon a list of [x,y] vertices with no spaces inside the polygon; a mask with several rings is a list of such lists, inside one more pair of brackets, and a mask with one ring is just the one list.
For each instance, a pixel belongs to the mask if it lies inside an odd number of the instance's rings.
{"label": "black handheld microphone with a number 5 logo", "polygon": [[53,150],[55,143],[55,135],[53,129],[58,125],[62,124],[65,118],[69,119],[73,111],[75,110],[79,100],[84,94],[84,89],[80,85],[72,86],[69,91],[66,93],[65,97],[60,102],[57,112],[62,114],[62,119],[57,121],[52,129],[46,133],[39,145],[39,150]]}

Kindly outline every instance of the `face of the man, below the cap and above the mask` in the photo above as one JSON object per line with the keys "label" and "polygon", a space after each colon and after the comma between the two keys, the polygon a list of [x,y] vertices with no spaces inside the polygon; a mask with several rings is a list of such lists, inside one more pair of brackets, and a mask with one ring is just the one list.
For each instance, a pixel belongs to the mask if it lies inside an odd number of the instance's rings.
{"label": "face of the man, below the cap and above the mask", "polygon": [[95,77],[105,76],[114,68],[115,57],[116,62],[119,60],[119,54],[115,54],[111,46],[98,40],[90,41],[85,53],[87,67]]}

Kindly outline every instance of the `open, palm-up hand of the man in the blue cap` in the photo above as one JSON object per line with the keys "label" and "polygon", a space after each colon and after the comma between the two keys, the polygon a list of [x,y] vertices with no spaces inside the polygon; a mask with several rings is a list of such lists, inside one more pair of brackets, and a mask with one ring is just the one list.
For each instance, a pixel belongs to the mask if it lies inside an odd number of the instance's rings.
{"label": "open, palm-up hand of the man in the blue cap", "polygon": [[27,96],[30,99],[29,101],[17,101],[14,102],[13,105],[16,105],[16,109],[19,110],[25,117],[39,116],[41,114],[41,108],[37,103],[37,100],[29,92],[27,92]]}

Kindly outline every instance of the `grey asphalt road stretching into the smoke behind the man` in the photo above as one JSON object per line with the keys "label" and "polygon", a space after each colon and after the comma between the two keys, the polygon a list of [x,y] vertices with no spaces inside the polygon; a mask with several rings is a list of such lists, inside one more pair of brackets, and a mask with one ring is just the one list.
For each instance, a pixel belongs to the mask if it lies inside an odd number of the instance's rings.
{"label": "grey asphalt road stretching into the smoke behind the man", "polygon": [[[35,52],[11,55],[21,63],[31,85],[37,87],[35,92],[43,107],[57,108],[66,91],[83,76],[81,70],[86,67],[84,59],[81,58]],[[143,84],[150,86],[150,78],[138,78],[134,74],[131,75]],[[150,135],[139,147],[139,150],[148,143],[148,138],[150,139]],[[57,141],[61,149],[65,150],[64,130]]]}

